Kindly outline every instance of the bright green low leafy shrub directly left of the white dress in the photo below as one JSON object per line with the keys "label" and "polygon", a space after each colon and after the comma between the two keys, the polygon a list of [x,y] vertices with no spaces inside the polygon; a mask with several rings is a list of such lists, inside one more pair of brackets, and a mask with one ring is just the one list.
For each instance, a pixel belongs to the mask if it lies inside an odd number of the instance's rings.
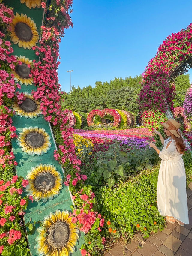
{"label": "bright green low leafy shrub directly left of the white dress", "polygon": [[95,191],[98,211],[123,233],[133,235],[141,231],[148,237],[150,232],[162,230],[165,219],[159,214],[156,202],[158,171],[159,164],[124,184],[99,188]]}

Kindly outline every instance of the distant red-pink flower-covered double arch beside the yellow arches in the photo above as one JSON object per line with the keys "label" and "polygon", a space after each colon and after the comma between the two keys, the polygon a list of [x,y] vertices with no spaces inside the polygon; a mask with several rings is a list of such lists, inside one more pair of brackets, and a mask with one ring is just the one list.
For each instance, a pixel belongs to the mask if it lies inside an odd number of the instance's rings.
{"label": "distant red-pink flower-covered double arch beside the yellow arches", "polygon": [[111,115],[114,118],[113,126],[118,127],[121,122],[121,116],[119,115],[118,111],[111,108],[105,108],[104,110],[94,109],[92,110],[87,117],[87,123],[88,126],[93,125],[93,117],[94,116],[101,116],[103,118],[104,116]]}

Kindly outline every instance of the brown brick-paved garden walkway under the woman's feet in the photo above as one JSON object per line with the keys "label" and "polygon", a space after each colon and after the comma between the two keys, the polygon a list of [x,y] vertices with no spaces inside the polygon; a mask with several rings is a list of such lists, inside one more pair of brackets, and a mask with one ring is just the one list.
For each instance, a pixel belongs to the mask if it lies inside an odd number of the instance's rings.
{"label": "brown brick-paved garden walkway under the woman's feet", "polygon": [[184,227],[168,222],[167,227],[147,239],[136,234],[129,244],[123,240],[105,256],[192,256],[192,183],[187,189],[189,224]]}

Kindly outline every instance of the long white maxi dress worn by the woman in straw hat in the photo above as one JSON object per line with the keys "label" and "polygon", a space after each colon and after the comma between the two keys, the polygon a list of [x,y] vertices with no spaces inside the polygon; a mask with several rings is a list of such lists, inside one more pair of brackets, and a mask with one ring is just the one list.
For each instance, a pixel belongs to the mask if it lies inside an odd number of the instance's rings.
{"label": "long white maxi dress worn by the woman in straw hat", "polygon": [[[169,141],[171,144],[166,149]],[[157,185],[158,211],[160,215],[173,216],[189,224],[184,163],[182,154],[176,152],[176,144],[171,137],[164,140],[159,157],[162,160]]]}

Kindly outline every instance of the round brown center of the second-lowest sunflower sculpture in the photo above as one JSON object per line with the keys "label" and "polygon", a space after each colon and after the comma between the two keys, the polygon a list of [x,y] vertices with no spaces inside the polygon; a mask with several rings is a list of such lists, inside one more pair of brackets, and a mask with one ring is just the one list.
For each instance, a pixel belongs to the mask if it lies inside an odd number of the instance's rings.
{"label": "round brown center of the second-lowest sunflower sculpture", "polygon": [[35,179],[35,186],[41,191],[49,191],[55,186],[55,178],[51,173],[39,173]]}

